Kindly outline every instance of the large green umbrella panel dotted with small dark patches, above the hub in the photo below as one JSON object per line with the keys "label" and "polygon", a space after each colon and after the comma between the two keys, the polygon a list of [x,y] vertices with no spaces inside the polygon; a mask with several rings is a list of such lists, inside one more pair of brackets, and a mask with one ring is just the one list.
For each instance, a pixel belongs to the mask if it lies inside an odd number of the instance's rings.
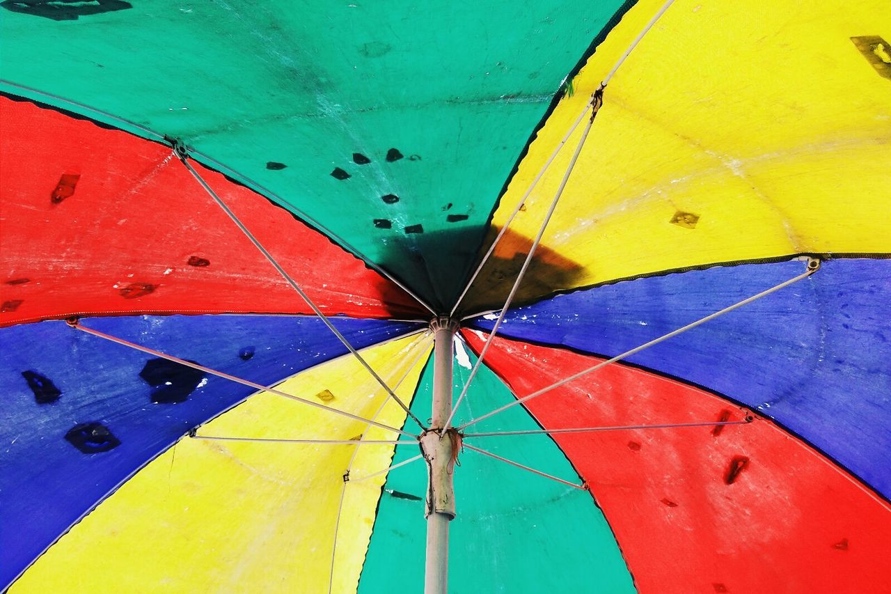
{"label": "large green umbrella panel dotted with small dark patches, above the hub", "polygon": [[180,138],[441,309],[622,4],[4,2],[3,78]]}

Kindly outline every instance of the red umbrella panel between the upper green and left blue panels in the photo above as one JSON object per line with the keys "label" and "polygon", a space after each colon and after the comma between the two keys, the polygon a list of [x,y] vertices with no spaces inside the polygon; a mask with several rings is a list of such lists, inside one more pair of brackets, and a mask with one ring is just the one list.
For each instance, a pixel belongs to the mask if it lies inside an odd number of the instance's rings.
{"label": "red umbrella panel between the upper green and left blue panels", "polygon": [[[4,96],[0,119],[0,326],[72,315],[312,313],[169,147]],[[315,229],[195,167],[325,313],[420,312]]]}

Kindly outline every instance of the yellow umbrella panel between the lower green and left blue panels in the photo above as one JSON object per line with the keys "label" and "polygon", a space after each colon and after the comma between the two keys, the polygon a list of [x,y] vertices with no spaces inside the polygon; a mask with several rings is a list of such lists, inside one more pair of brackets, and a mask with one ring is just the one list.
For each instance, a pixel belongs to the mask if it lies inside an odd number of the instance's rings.
{"label": "yellow umbrella panel between the lower green and left blue panels", "polygon": [[[363,355],[407,403],[430,343],[425,333]],[[385,425],[405,422],[405,411],[350,355],[278,389]],[[268,392],[198,434],[398,437]],[[300,584],[300,591],[327,592],[339,514],[348,521],[339,523],[332,591],[355,591],[386,475],[344,483],[343,474],[348,469],[360,478],[386,469],[394,447],[184,438],[75,525],[11,591],[293,591]]]}

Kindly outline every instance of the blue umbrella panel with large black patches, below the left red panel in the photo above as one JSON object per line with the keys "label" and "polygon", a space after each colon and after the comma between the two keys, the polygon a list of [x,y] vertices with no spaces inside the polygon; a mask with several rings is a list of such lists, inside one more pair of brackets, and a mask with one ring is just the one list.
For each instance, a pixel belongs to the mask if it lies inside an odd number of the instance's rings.
{"label": "blue umbrella panel with large black patches, below the left red panel", "polygon": [[[356,348],[421,327],[332,321]],[[82,324],[263,385],[347,353],[319,318],[141,316]],[[0,585],[190,429],[255,392],[62,321],[0,330],[0,384],[11,390],[0,425]]]}

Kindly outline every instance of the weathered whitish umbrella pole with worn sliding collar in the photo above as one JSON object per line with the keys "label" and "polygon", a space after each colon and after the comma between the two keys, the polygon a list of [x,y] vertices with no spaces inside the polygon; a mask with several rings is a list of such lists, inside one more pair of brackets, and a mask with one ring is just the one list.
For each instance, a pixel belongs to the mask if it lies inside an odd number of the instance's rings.
{"label": "weathered whitish umbrella pole with worn sliding collar", "polygon": [[454,459],[458,433],[442,427],[452,412],[452,349],[458,324],[448,317],[430,323],[433,342],[433,408],[430,428],[421,434],[427,460],[427,563],[425,594],[446,594],[448,584],[448,523],[454,519]]}

